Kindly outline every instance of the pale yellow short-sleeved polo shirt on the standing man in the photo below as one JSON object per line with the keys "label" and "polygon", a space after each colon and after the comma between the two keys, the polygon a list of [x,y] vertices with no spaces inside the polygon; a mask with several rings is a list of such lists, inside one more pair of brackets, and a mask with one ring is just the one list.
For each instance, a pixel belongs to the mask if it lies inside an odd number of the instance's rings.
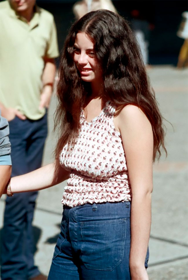
{"label": "pale yellow short-sleeved polo shirt on the standing man", "polygon": [[39,109],[44,57],[59,56],[54,17],[36,7],[27,24],[11,8],[0,3],[0,101],[18,109],[28,119],[44,116]]}

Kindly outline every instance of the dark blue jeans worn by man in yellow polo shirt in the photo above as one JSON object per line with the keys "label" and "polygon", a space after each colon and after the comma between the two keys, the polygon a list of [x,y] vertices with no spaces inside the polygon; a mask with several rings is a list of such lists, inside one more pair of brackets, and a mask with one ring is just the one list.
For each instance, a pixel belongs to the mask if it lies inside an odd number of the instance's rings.
{"label": "dark blue jeans worn by man in yellow polo shirt", "polygon": [[[47,137],[47,114],[37,121],[18,117],[9,122],[12,177],[41,166]],[[7,197],[1,234],[1,279],[30,279],[40,274],[34,266],[32,220],[37,192]]]}

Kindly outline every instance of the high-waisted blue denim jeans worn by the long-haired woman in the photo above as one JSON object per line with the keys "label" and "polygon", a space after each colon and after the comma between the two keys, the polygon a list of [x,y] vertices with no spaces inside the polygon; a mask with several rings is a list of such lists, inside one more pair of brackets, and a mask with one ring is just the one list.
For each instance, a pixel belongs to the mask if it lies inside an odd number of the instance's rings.
{"label": "high-waisted blue denim jeans worn by the long-haired woman", "polygon": [[130,202],[64,206],[48,279],[127,280],[129,252]]}

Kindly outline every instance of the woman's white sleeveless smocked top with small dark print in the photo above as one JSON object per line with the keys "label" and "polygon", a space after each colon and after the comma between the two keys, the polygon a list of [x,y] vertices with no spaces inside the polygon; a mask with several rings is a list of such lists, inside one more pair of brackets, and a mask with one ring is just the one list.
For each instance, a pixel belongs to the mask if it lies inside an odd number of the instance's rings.
{"label": "woman's white sleeveless smocked top with small dark print", "polygon": [[121,135],[114,127],[114,113],[110,101],[91,122],[82,111],[74,146],[66,144],[60,154],[60,163],[71,172],[62,204],[75,207],[131,200],[126,157]]}

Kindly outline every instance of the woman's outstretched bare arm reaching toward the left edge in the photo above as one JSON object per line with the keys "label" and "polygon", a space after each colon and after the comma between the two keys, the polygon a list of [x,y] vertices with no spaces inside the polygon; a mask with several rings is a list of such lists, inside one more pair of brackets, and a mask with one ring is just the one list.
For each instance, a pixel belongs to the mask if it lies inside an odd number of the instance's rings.
{"label": "woman's outstretched bare arm reaching toward the left edge", "polygon": [[50,163],[30,173],[11,178],[12,193],[31,192],[49,188],[69,178],[69,172]]}

